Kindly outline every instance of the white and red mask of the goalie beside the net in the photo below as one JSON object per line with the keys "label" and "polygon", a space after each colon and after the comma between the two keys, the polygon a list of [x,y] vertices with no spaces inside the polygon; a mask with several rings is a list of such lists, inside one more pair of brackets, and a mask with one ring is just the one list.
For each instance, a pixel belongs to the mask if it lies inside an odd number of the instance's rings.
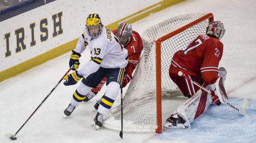
{"label": "white and red mask of the goalie beside the net", "polygon": [[220,40],[225,33],[224,24],[220,21],[211,22],[206,28],[206,34],[214,36]]}

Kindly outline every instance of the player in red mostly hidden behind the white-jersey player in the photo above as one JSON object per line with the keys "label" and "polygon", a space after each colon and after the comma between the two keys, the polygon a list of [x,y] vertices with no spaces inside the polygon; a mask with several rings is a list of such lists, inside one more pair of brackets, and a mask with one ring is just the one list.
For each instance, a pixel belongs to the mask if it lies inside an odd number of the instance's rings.
{"label": "player in red mostly hidden behind the white-jersey player", "polygon": [[[133,31],[131,24],[123,22],[119,25],[118,29],[113,33],[117,36],[120,43],[128,50],[129,62],[125,68],[125,74],[123,77],[122,87],[125,87],[132,80],[132,72],[135,70],[143,49],[143,43],[138,32]],[[98,84],[96,88],[93,88],[90,93],[86,95],[85,102],[91,100],[103,87],[106,82],[106,77]],[[99,103],[95,104],[97,109]]]}

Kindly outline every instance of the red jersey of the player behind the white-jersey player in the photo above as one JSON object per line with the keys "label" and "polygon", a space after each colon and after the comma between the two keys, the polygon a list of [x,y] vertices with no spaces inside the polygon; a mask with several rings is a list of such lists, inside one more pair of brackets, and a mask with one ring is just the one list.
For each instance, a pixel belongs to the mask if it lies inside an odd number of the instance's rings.
{"label": "red jersey of the player behind the white-jersey player", "polygon": [[[117,30],[112,31],[115,35]],[[143,43],[138,32],[132,31],[130,42],[125,46],[128,50],[129,62],[125,68],[126,73],[132,75],[133,70],[136,68],[139,60],[141,51],[143,49]]]}

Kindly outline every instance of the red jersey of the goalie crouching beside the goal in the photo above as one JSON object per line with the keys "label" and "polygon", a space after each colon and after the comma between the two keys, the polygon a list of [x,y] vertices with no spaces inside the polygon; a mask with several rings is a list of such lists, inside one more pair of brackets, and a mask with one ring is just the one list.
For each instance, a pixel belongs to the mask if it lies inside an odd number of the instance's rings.
{"label": "red jersey of the goalie crouching beside the goal", "polygon": [[223,53],[223,44],[215,37],[203,34],[177,51],[171,62],[169,72],[194,75],[202,78],[206,85],[218,79],[218,65]]}

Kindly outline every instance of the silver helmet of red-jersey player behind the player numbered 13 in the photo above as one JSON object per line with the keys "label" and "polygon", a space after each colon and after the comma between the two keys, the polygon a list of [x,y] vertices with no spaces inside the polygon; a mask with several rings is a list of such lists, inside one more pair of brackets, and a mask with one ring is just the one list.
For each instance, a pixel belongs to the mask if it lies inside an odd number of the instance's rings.
{"label": "silver helmet of red-jersey player behind the player numbered 13", "polygon": [[116,32],[116,36],[118,37],[122,45],[126,46],[130,42],[131,32],[132,32],[131,24],[123,22],[119,25]]}

